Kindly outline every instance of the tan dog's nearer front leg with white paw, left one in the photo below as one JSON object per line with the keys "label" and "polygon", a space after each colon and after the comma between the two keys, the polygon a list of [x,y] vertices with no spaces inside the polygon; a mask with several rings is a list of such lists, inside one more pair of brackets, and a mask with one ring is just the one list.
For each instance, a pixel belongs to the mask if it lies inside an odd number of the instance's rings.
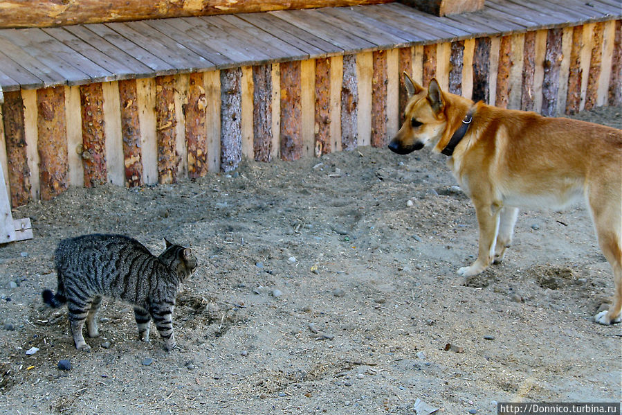
{"label": "tan dog's nearer front leg with white paw, left one", "polygon": [[486,270],[491,265],[495,254],[495,241],[499,231],[499,216],[502,204],[486,201],[475,201],[475,214],[479,224],[479,252],[477,261],[470,267],[461,267],[458,274],[461,276],[473,276]]}

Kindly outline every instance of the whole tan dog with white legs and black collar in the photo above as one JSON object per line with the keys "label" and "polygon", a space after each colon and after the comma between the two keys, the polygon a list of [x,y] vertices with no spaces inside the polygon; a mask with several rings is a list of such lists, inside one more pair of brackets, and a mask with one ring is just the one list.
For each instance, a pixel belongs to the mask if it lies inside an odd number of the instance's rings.
{"label": "whole tan dog with white legs and black collar", "polygon": [[583,197],[615,283],[612,305],[594,321],[619,323],[622,130],[474,103],[441,91],[435,79],[425,89],[407,73],[404,76],[410,98],[390,150],[408,154],[430,147],[446,154],[454,177],[475,206],[477,260],[458,274],[473,276],[503,261],[518,208],[561,209]]}

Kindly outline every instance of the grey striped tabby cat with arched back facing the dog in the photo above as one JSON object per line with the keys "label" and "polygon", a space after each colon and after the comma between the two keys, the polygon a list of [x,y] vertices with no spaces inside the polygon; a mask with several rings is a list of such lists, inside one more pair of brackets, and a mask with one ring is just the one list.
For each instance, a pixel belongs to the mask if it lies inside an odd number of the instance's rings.
{"label": "grey striped tabby cat with arched back facing the dog", "polygon": [[165,239],[160,256],[135,239],[122,235],[84,235],[62,240],[55,252],[58,289],[44,290],[43,301],[52,307],[67,303],[75,348],[89,351],[82,327],[97,337],[97,312],[102,297],[134,305],[138,337],[149,341],[154,319],[167,351],[175,348],[172,312],[179,285],[196,269],[192,249]]}

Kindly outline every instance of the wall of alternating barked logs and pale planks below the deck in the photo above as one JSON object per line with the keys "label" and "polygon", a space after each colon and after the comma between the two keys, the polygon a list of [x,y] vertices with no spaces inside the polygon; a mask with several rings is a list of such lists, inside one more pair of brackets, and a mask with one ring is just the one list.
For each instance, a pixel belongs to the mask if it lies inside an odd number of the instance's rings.
{"label": "wall of alternating barked logs and pale planks below the deck", "polygon": [[6,92],[0,161],[12,206],[68,186],[197,179],[257,161],[382,147],[403,72],[547,116],[622,105],[621,23],[604,21],[317,60]]}

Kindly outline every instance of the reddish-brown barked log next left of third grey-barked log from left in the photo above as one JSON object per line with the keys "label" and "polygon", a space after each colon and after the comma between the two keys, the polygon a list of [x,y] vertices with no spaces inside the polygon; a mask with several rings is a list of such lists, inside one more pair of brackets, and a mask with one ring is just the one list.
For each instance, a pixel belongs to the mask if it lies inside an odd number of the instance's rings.
{"label": "reddish-brown barked log next left of third grey-barked log from left", "polygon": [[331,58],[315,60],[315,157],[331,152]]}

